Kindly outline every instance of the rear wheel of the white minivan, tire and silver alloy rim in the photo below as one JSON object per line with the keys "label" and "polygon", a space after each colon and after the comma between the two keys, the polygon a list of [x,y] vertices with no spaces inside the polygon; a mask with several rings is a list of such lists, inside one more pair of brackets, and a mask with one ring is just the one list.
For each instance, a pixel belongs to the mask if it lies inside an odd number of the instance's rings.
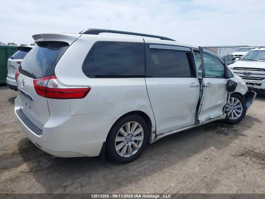
{"label": "rear wheel of the white minivan, tire and silver alloy rim", "polygon": [[106,153],[121,164],[137,159],[148,141],[148,126],[140,115],[126,115],[119,119],[109,131]]}

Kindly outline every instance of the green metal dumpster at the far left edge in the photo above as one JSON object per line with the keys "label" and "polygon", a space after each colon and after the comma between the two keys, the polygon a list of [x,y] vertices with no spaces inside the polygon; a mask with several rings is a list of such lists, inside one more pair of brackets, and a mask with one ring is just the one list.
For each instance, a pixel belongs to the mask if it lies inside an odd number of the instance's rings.
{"label": "green metal dumpster at the far left edge", "polygon": [[7,60],[18,51],[16,46],[0,46],[0,84],[6,83],[7,78]]}

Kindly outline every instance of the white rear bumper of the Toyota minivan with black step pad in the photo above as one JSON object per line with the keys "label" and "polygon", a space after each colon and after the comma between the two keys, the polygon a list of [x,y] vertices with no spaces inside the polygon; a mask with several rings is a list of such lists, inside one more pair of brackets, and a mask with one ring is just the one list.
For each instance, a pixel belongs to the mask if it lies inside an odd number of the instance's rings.
{"label": "white rear bumper of the Toyota minivan with black step pad", "polygon": [[50,114],[40,133],[19,112],[22,111],[17,97],[15,114],[22,130],[37,147],[57,157],[98,156],[111,126],[116,121],[116,118],[103,113],[75,116]]}

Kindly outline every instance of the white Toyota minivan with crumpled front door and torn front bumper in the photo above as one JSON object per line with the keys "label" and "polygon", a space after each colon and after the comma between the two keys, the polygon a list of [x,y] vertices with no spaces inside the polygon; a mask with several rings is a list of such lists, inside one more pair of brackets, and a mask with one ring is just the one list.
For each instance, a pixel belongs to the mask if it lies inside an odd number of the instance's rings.
{"label": "white Toyota minivan with crumpled front door and torn front bumper", "polygon": [[[98,35],[105,32],[139,37]],[[167,37],[86,29],[33,38],[17,70],[15,114],[29,139],[57,157],[106,152],[128,163],[164,136],[240,122],[256,96],[214,52]]]}

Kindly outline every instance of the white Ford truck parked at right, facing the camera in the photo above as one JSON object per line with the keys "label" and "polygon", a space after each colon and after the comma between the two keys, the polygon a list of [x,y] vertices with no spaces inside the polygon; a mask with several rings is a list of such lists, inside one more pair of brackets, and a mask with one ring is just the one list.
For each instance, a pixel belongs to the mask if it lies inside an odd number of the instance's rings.
{"label": "white Ford truck parked at right, facing the camera", "polygon": [[229,67],[249,89],[265,93],[265,48],[254,48]]}

